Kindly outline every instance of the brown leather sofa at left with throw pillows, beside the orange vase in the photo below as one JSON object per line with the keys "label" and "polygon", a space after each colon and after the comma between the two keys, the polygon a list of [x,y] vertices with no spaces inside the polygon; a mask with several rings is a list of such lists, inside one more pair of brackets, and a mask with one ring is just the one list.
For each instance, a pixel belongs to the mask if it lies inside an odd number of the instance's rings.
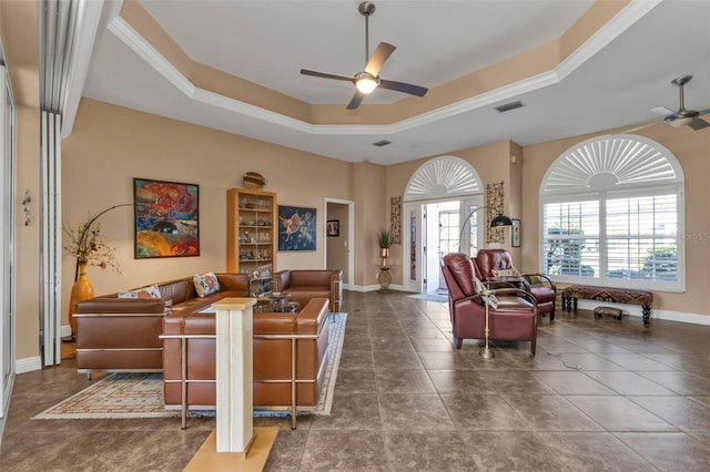
{"label": "brown leather sofa at left with throw pillows, beside the orange vase", "polygon": [[163,370],[163,317],[191,314],[224,297],[247,297],[248,276],[215,274],[220,291],[197,297],[192,277],[158,285],[161,298],[118,298],[118,294],[77,304],[78,371],[160,372]]}

